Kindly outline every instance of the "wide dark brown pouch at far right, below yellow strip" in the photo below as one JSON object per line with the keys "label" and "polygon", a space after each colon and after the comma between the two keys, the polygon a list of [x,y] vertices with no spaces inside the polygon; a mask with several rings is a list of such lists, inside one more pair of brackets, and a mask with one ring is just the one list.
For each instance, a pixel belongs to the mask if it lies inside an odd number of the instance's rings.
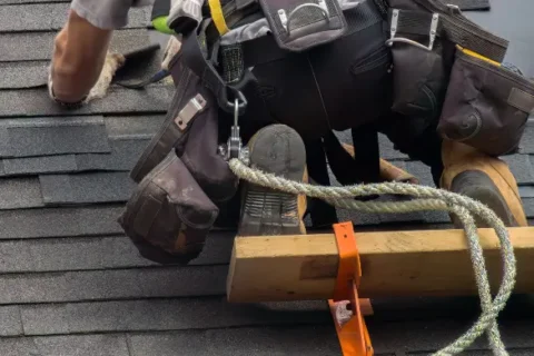
{"label": "wide dark brown pouch at far right, below yellow strip", "polygon": [[533,82],[458,50],[437,130],[491,156],[512,154],[533,109]]}

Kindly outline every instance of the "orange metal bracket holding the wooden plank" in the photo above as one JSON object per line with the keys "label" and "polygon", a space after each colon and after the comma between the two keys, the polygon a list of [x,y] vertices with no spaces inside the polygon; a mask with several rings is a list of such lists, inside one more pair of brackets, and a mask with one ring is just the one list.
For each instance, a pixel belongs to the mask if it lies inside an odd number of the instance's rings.
{"label": "orange metal bracket holding the wooden plank", "polygon": [[[335,224],[334,233],[339,251],[339,266],[334,296],[333,299],[328,300],[328,304],[336,325],[343,356],[373,356],[374,350],[364,320],[364,309],[372,309],[368,299],[358,298],[362,266],[353,224]],[[339,313],[343,307],[347,310]],[[352,314],[349,314],[348,310],[350,310]],[[340,314],[348,314],[349,319],[346,322],[340,320]]]}

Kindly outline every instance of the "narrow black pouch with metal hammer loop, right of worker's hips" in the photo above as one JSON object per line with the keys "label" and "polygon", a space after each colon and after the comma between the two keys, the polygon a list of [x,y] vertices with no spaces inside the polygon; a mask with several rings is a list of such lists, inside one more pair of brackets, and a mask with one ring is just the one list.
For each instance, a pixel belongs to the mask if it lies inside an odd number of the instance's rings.
{"label": "narrow black pouch with metal hammer loop, right of worker's hips", "polygon": [[439,117],[454,44],[436,36],[437,13],[390,9],[388,23],[394,82],[392,110],[417,121],[417,129],[423,130]]}

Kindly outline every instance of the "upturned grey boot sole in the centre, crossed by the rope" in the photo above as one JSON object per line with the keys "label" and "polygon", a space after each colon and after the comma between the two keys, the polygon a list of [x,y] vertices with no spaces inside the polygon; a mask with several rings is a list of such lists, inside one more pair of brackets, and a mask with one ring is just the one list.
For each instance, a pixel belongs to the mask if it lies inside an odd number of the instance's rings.
{"label": "upturned grey boot sole in the centre, crossed by the rope", "polygon": [[[250,167],[306,181],[306,150],[300,136],[285,125],[260,129],[248,142]],[[244,182],[239,236],[306,234],[306,197]]]}

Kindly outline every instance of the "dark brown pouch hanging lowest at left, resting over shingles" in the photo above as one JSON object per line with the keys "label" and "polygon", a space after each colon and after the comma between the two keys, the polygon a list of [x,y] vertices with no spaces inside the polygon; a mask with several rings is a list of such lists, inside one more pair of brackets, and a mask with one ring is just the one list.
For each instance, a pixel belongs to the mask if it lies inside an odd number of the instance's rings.
{"label": "dark brown pouch hanging lowest at left, resting over shingles", "polygon": [[170,152],[135,189],[119,224],[139,253],[159,264],[198,257],[218,208]]}

